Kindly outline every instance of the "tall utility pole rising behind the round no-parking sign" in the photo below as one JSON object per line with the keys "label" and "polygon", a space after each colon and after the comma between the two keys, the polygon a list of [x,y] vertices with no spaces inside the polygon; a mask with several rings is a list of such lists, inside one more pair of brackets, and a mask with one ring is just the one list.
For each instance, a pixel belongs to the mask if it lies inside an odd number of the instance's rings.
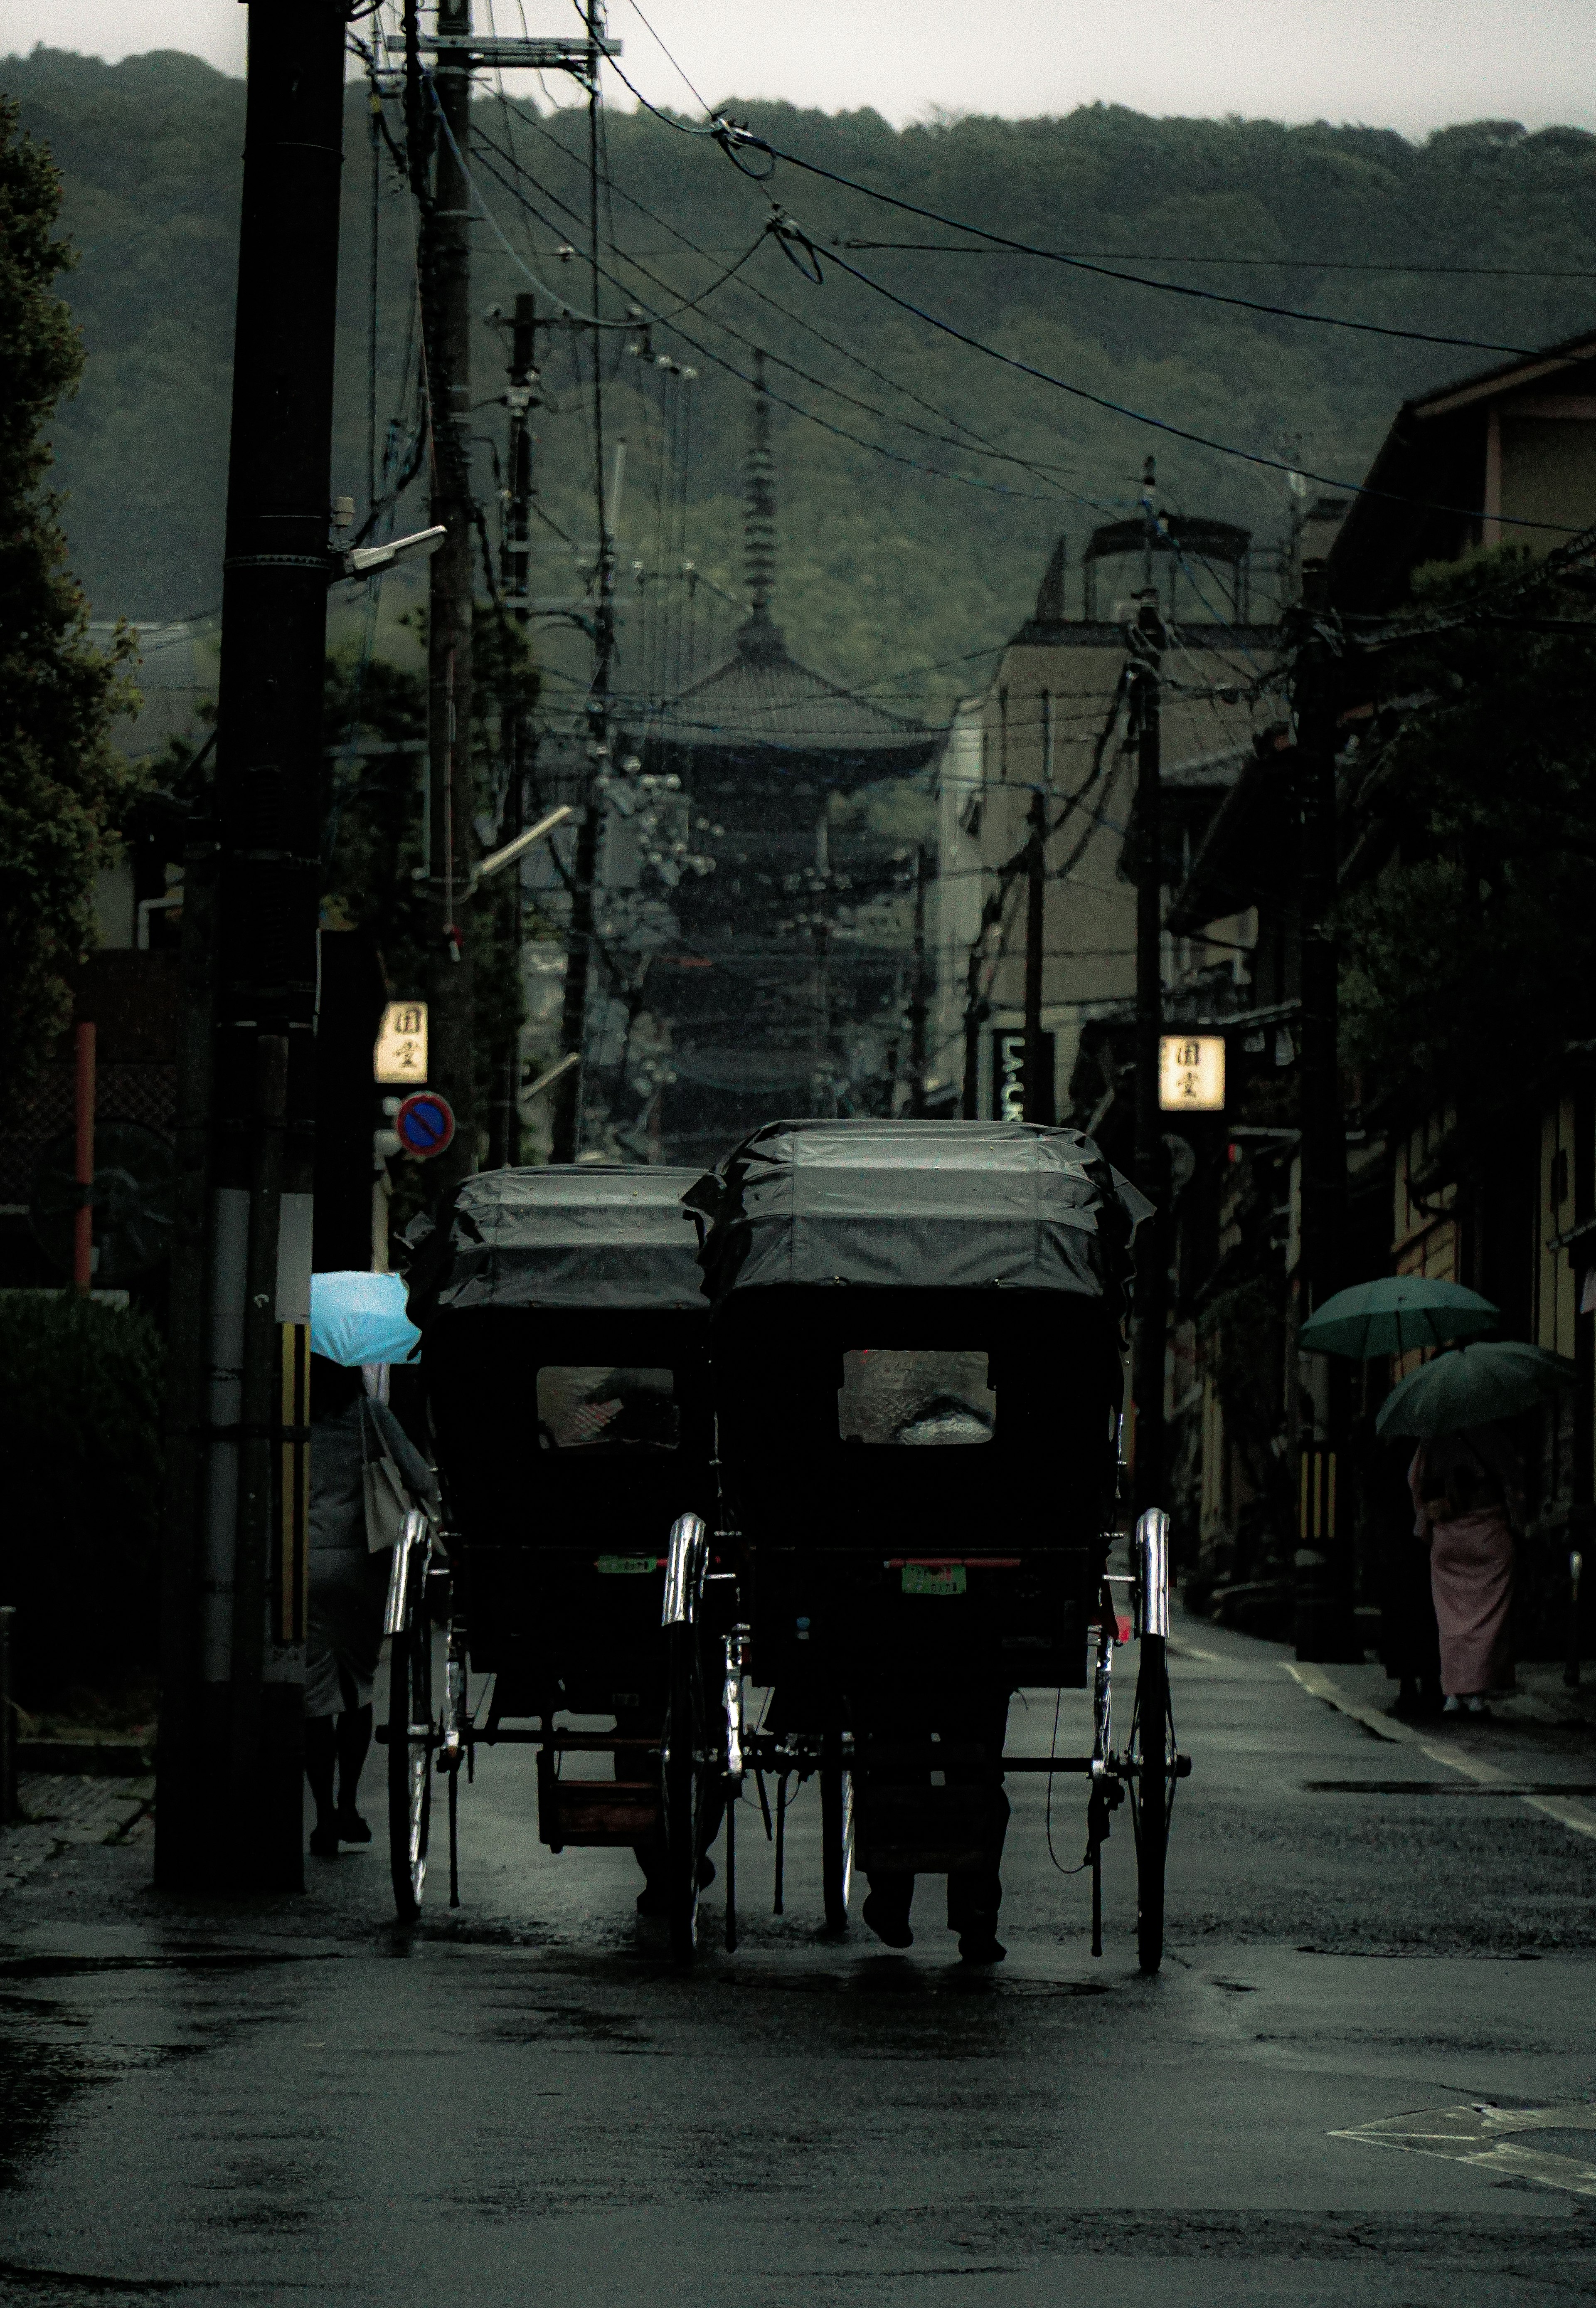
{"label": "tall utility pole rising behind the round no-parking sign", "polygon": [[[427,595],[427,1004],[429,1076],[454,1110],[454,1142],[431,1166],[438,1193],[477,1166],[475,995],[466,916],[475,863],[470,764],[470,0],[438,0],[431,201],[422,210],[422,307],[434,422],[431,519],[447,535]],[[420,113],[420,106],[415,106]]]}

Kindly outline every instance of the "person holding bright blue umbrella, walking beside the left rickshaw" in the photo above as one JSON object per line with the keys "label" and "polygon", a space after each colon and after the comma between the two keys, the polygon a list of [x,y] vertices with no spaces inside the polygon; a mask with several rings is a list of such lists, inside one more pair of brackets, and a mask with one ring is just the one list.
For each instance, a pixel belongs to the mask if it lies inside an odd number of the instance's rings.
{"label": "person holding bright blue umbrella, walking beside the left rickshaw", "polygon": [[408,1362],[422,1334],[397,1274],[311,1276],[311,1528],[304,1629],[304,1777],[316,1803],[314,1858],[369,1844],[360,1773],[371,1752],[371,1685],[383,1604],[408,1500],[431,1507],[438,1482],[362,1373]]}

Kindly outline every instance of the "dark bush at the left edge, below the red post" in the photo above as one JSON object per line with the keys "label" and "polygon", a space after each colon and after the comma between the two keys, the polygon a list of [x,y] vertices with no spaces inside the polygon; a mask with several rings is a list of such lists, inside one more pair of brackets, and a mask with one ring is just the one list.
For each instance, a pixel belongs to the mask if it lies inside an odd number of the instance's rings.
{"label": "dark bush at the left edge, below the red post", "polygon": [[67,1292],[7,1290],[0,1309],[16,1696],[129,1692],[157,1662],[161,1334]]}

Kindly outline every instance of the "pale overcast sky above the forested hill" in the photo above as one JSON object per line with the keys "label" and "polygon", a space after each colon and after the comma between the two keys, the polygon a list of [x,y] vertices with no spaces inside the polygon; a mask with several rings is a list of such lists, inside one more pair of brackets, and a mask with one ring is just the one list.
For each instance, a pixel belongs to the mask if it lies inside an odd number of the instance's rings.
{"label": "pale overcast sky above the forested hill", "polygon": [[[893,122],[932,106],[1361,120],[1423,136],[1451,120],[1596,129],[1591,0],[648,0],[648,21],[708,102],[786,97]],[[187,48],[242,72],[240,0],[0,0],[0,55],[46,42],[108,60]],[[692,108],[632,0],[611,0],[632,78]],[[558,32],[563,0],[475,0],[477,25]],[[616,102],[630,104],[623,88]]]}

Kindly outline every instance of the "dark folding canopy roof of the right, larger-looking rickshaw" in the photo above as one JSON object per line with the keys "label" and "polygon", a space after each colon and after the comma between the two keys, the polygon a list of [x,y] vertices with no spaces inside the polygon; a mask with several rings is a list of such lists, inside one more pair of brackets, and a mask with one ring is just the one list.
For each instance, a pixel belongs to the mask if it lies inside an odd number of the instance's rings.
{"label": "dark folding canopy roof of the right, larger-looking rickshaw", "polygon": [[768,1122],[699,1182],[715,1299],[773,1283],[1063,1290],[1121,1313],[1151,1209],[1079,1131]]}

